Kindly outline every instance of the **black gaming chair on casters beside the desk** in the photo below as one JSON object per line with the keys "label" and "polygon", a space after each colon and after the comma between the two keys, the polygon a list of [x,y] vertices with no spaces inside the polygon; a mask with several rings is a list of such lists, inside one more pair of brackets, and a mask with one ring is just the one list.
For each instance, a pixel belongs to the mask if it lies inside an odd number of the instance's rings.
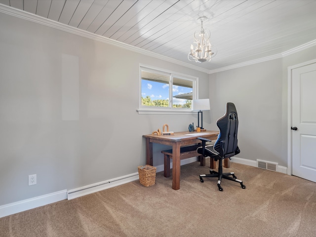
{"label": "black gaming chair on casters beside the desk", "polygon": [[217,177],[217,186],[219,191],[223,191],[223,188],[221,187],[222,178],[238,182],[240,183],[241,188],[245,189],[246,186],[242,184],[241,180],[237,179],[235,173],[223,173],[222,166],[223,159],[231,159],[231,157],[240,153],[240,150],[237,146],[238,117],[236,107],[233,103],[227,103],[226,114],[217,120],[217,126],[220,129],[220,133],[215,144],[206,145],[206,142],[211,142],[211,140],[198,137],[197,139],[202,141],[202,146],[197,148],[197,153],[204,157],[210,157],[214,158],[214,160],[219,160],[218,172],[210,169],[210,174],[201,174],[199,179],[201,183],[203,183],[203,177]]}

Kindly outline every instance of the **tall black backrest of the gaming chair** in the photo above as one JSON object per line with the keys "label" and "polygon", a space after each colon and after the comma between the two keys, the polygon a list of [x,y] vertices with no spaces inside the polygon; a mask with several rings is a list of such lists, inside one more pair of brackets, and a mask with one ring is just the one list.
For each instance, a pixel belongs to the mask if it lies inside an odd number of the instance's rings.
{"label": "tall black backrest of the gaming chair", "polygon": [[233,103],[227,103],[226,114],[217,120],[217,126],[220,133],[214,144],[214,150],[217,151],[221,157],[237,155],[240,152],[237,146],[238,116]]}

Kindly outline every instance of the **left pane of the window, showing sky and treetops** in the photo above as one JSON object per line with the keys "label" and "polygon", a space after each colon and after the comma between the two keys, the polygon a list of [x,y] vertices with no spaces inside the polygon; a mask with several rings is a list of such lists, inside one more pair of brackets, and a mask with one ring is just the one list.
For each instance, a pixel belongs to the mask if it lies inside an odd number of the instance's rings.
{"label": "left pane of the window, showing sky and treetops", "polygon": [[142,70],[141,79],[141,105],[169,107],[170,75]]}

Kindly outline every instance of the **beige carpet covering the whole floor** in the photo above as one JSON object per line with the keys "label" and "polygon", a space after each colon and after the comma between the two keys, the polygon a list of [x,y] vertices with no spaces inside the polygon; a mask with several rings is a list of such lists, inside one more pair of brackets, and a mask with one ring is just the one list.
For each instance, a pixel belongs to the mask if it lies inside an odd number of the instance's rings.
{"label": "beige carpet covering the whole floor", "polygon": [[[209,159],[207,159],[209,165]],[[315,237],[316,183],[231,163],[247,186],[181,166],[180,190],[160,172],[156,185],[134,181],[0,218],[1,237]],[[224,168],[224,171],[227,170]]]}

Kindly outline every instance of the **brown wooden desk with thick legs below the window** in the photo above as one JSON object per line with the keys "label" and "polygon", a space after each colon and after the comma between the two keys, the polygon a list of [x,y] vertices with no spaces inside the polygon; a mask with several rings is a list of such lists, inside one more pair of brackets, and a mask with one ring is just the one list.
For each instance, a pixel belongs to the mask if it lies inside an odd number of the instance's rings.
{"label": "brown wooden desk with thick legs below the window", "polygon": [[218,134],[218,131],[199,133],[187,131],[175,132],[174,135],[143,135],[146,138],[146,163],[153,165],[153,143],[172,146],[172,188],[178,190],[180,189],[180,147],[200,143],[197,137],[216,140]]}

